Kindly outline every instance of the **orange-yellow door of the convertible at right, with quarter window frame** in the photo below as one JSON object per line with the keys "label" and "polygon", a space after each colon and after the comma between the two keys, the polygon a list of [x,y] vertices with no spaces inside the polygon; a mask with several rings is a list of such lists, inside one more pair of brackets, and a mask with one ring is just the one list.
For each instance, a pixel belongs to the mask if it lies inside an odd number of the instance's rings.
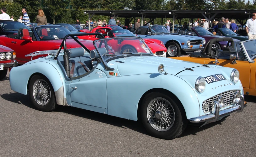
{"label": "orange-yellow door of the convertible at right, with quarter window frame", "polygon": [[[250,88],[251,65],[248,62],[248,60],[246,59],[246,57],[244,56],[244,53],[242,52],[240,44],[236,43],[235,46],[236,46],[237,54],[238,54],[238,59],[236,60],[237,64],[233,64],[232,63],[233,60],[218,58],[219,63],[217,63],[217,65],[237,69],[240,74],[240,81],[242,82],[242,86],[244,88]],[[215,59],[210,59],[210,61],[215,62]]]}

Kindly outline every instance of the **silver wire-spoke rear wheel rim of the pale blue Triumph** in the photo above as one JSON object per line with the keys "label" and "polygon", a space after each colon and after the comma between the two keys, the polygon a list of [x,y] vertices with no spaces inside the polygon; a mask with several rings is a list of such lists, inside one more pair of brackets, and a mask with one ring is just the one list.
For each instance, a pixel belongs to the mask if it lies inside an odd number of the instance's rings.
{"label": "silver wire-spoke rear wheel rim of the pale blue Triumph", "polygon": [[51,90],[48,83],[43,79],[38,79],[33,85],[33,96],[35,101],[41,105],[46,105],[51,98]]}

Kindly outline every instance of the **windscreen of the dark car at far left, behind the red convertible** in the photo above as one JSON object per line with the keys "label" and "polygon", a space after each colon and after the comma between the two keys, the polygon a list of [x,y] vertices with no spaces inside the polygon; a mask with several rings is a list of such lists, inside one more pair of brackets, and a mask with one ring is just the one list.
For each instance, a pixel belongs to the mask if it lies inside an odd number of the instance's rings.
{"label": "windscreen of the dark car at far left, behind the red convertible", "polygon": [[0,26],[3,28],[3,31],[15,31],[15,30],[19,30],[20,28],[31,30],[30,28],[25,26],[25,24],[22,24],[20,22],[12,22],[12,21],[0,22]]}

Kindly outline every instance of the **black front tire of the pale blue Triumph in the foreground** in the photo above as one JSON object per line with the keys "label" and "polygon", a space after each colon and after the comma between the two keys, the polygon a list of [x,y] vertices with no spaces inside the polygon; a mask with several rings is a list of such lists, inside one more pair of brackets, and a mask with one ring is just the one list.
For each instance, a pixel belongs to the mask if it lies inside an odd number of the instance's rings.
{"label": "black front tire of the pale blue Triumph in the foreground", "polygon": [[[166,131],[157,130],[156,128],[154,128],[150,124],[150,121],[148,119],[148,113],[147,113],[148,107],[149,107],[149,104],[152,104],[150,102],[153,101],[155,98],[164,98],[165,100],[170,102],[170,104],[172,106],[172,109],[174,111],[174,115],[175,115],[174,123]],[[161,139],[174,139],[174,138],[178,137],[179,135],[181,135],[182,132],[185,130],[186,126],[187,126],[187,123],[185,123],[186,122],[185,114],[179,108],[177,103],[175,101],[173,101],[171,97],[168,97],[165,94],[162,94],[162,93],[159,93],[159,92],[152,92],[152,93],[147,94],[144,97],[140,107],[141,107],[140,108],[140,112],[141,112],[140,115],[141,115],[142,123],[143,123],[144,127],[146,128],[146,130],[152,136],[155,136],[155,137],[161,138]],[[170,111],[170,110],[168,110],[168,111]],[[164,112],[164,111],[162,111],[162,112]],[[161,114],[161,118],[162,118],[163,114]],[[153,118],[151,118],[151,119],[153,119]]]}

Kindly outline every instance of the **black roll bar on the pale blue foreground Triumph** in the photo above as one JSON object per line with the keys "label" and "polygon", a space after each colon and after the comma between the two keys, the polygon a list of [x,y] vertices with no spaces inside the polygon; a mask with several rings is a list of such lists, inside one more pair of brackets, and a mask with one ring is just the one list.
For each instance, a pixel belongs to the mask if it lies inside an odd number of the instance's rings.
{"label": "black roll bar on the pale blue foreground Triumph", "polygon": [[64,50],[64,55],[63,55],[63,61],[64,61],[64,68],[65,68],[65,71],[67,73],[68,76],[70,76],[70,67],[69,67],[69,61],[68,61],[68,50],[67,50],[67,45],[66,45],[66,40],[68,37],[71,37],[72,39],[74,39],[80,46],[82,46],[82,48],[84,48],[84,50],[90,52],[90,50],[88,50],[78,39],[75,38],[75,36],[85,36],[85,35],[99,35],[101,36],[102,38],[104,38],[104,36],[100,33],[83,33],[83,34],[68,34],[65,36],[65,38],[63,39],[58,51],[57,51],[57,54],[55,55],[54,57],[54,60],[57,60],[57,57],[63,47],[63,50]]}

